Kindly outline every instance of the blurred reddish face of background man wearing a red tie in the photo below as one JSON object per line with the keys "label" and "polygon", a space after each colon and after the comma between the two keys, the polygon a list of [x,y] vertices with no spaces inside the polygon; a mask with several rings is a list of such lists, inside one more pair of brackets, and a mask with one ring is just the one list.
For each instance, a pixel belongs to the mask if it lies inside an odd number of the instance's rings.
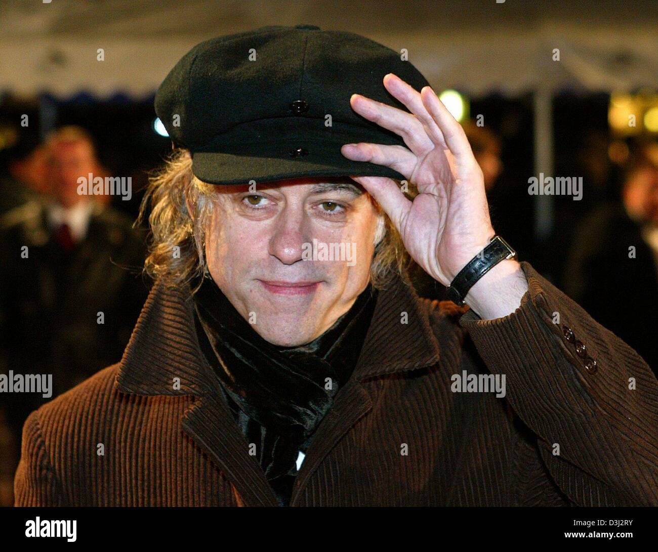
{"label": "blurred reddish face of background man wearing a red tie", "polygon": [[84,140],[61,141],[49,145],[51,191],[64,207],[71,207],[86,196],[78,195],[78,178],[89,178],[98,164],[91,144]]}

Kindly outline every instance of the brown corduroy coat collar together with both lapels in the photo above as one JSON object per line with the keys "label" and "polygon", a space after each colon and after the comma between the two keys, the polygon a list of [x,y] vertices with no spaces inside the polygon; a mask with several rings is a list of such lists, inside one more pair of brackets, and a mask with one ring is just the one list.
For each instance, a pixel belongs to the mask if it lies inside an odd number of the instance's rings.
{"label": "brown corduroy coat collar together with both lapels", "polygon": [[[397,280],[380,291],[353,376],[316,430],[295,478],[290,505],[298,503],[332,447],[372,409],[363,380],[428,366],[438,359],[428,314],[413,290]],[[153,286],[124,352],[115,388],[137,395],[193,395],[181,419],[182,428],[226,473],[241,503],[276,505],[265,472],[248,455],[213,368],[203,357],[188,289]]]}

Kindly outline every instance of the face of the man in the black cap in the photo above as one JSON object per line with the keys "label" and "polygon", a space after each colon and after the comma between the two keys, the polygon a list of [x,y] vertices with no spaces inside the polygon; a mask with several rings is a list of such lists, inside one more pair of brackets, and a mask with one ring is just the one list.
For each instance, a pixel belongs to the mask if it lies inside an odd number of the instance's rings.
{"label": "face of the man in the black cap", "polygon": [[259,184],[257,191],[218,188],[206,228],[209,271],[274,345],[313,341],[368,284],[378,212],[358,184],[340,182],[305,178]]}

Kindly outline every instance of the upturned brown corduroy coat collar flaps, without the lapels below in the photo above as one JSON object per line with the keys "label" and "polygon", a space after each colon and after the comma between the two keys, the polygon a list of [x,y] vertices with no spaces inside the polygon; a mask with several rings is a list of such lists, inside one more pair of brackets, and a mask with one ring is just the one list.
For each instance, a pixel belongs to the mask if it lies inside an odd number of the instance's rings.
{"label": "upturned brown corduroy coat collar flaps, without the lapels below", "polygon": [[[400,278],[379,293],[355,378],[404,372],[438,362],[426,309]],[[139,314],[116,376],[118,390],[138,395],[213,392],[201,353],[188,288],[157,282]]]}

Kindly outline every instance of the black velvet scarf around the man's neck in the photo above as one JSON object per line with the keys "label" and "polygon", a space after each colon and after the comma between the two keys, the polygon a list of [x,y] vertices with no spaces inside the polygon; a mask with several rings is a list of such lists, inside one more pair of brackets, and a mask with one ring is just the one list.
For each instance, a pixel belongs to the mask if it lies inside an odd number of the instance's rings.
{"label": "black velvet scarf around the man's neck", "polygon": [[201,349],[280,505],[288,505],[299,451],[355,368],[376,290],[368,286],[331,328],[299,347],[261,338],[210,278],[193,297]]}

